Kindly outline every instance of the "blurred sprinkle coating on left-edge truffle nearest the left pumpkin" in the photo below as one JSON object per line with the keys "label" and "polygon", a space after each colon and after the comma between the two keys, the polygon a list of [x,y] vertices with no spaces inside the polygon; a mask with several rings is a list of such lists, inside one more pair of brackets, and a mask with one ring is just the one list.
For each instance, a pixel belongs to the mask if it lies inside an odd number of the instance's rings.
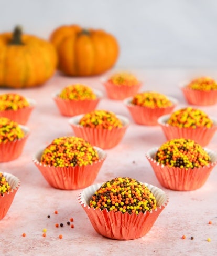
{"label": "blurred sprinkle coating on left-edge truffle nearest the left pumpkin", "polygon": [[18,110],[21,108],[26,108],[29,106],[28,101],[25,97],[9,93],[9,94],[1,94],[0,95],[0,111],[4,110]]}

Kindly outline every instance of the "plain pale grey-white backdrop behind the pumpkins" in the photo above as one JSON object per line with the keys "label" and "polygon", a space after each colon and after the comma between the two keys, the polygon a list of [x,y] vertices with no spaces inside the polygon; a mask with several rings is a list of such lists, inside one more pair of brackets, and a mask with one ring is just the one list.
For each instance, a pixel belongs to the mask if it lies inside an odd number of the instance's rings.
{"label": "plain pale grey-white backdrop behind the pumpkins", "polygon": [[121,68],[217,68],[216,0],[0,0],[0,22],[45,39],[63,24],[105,29]]}

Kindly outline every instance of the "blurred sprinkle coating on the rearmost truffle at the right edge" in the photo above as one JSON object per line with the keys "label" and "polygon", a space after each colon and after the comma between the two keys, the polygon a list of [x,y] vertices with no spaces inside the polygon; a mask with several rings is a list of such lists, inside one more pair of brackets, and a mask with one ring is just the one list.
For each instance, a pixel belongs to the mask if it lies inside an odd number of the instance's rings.
{"label": "blurred sprinkle coating on the rearmost truffle at the right edge", "polygon": [[191,81],[187,85],[192,90],[210,91],[217,90],[217,82],[211,77],[200,77]]}

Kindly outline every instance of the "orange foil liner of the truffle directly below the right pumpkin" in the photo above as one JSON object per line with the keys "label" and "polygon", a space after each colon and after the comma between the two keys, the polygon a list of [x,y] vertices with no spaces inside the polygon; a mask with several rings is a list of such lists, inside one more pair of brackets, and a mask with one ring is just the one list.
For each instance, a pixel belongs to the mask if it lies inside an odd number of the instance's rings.
{"label": "orange foil liner of the truffle directly below the right pumpkin", "polygon": [[91,100],[65,100],[58,97],[59,93],[53,95],[53,100],[60,111],[62,116],[76,116],[90,112],[94,110],[102,98],[102,93],[99,90],[93,89],[93,92],[96,95],[96,99]]}

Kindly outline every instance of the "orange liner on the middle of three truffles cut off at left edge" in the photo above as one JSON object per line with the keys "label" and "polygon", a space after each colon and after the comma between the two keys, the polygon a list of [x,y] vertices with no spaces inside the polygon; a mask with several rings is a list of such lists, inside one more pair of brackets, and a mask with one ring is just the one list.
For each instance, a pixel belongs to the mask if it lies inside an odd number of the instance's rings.
{"label": "orange liner on the middle of three truffles cut off at left edge", "polygon": [[19,125],[19,127],[24,131],[24,138],[6,143],[0,143],[0,162],[15,160],[23,152],[26,140],[29,136],[29,128],[23,125]]}

